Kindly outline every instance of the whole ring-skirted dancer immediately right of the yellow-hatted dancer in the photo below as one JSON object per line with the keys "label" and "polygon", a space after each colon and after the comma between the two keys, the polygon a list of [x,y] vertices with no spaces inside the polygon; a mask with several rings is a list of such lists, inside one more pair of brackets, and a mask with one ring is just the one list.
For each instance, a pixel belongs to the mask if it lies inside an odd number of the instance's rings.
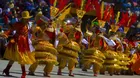
{"label": "whole ring-skirted dancer immediately right of the yellow-hatted dancer", "polygon": [[37,14],[36,22],[37,26],[33,30],[36,62],[29,67],[29,75],[35,75],[34,72],[38,65],[45,65],[44,76],[50,77],[53,66],[57,64],[58,53],[53,45],[55,29],[52,21],[42,14]]}

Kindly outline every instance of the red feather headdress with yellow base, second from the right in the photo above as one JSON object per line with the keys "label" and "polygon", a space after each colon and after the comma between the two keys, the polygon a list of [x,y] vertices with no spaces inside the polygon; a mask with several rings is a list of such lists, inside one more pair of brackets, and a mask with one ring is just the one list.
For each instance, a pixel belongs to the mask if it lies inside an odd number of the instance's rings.
{"label": "red feather headdress with yellow base, second from the right", "polygon": [[111,7],[111,5],[104,6],[104,2],[100,4],[98,0],[95,0],[94,6],[99,26],[101,28],[104,27],[106,22],[109,22],[111,19],[114,19],[114,9],[113,7]]}

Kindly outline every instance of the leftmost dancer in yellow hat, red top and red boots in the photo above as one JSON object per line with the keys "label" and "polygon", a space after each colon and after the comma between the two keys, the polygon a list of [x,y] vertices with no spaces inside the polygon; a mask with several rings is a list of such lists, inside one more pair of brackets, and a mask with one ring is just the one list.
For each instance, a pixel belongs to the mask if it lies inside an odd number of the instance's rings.
{"label": "leftmost dancer in yellow hat, red top and red boots", "polygon": [[16,31],[13,39],[9,41],[4,54],[4,58],[10,60],[7,67],[3,70],[3,74],[6,76],[10,76],[9,70],[13,63],[17,61],[22,69],[21,78],[25,78],[25,64],[33,64],[35,62],[34,54],[30,52],[29,47],[28,21],[30,18],[29,12],[23,11],[21,21],[13,24],[12,28],[5,32],[5,36],[8,36],[14,30]]}

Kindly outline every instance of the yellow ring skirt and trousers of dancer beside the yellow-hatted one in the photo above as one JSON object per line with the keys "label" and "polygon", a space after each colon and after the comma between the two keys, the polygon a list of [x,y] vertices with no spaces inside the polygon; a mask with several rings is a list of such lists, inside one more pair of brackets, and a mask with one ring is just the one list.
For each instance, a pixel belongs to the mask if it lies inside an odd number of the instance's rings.
{"label": "yellow ring skirt and trousers of dancer beside the yellow-hatted one", "polygon": [[50,73],[53,69],[53,65],[57,64],[57,50],[54,46],[45,40],[39,40],[34,45],[36,63],[32,64],[29,68],[30,72],[34,73],[35,69],[39,65],[46,65],[44,68],[45,73]]}

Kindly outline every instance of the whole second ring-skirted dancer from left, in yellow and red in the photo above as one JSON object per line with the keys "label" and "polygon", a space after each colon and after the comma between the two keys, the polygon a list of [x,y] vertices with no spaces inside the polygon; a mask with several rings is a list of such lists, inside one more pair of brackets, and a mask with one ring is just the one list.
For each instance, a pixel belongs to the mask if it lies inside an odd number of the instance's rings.
{"label": "whole second ring-skirted dancer from left, in yellow and red", "polygon": [[81,40],[81,27],[79,22],[77,22],[76,25],[76,27],[69,25],[67,26],[68,28],[65,27],[63,29],[64,33],[68,37],[69,42],[65,43],[64,45],[58,45],[58,75],[62,75],[62,69],[64,69],[68,63],[69,76],[74,77],[72,72],[75,68],[75,65],[78,63],[78,52],[80,52],[80,46],[78,43],[80,43]]}

